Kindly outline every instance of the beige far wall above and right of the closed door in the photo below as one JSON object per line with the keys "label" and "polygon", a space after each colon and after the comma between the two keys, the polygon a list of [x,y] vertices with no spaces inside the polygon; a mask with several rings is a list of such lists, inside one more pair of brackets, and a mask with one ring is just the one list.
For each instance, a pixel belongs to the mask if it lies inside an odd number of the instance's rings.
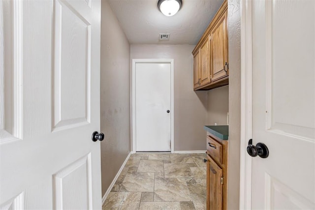
{"label": "beige far wall above and right of the closed door", "polygon": [[207,91],[193,91],[194,45],[131,45],[131,59],[174,59],[174,150],[206,150]]}

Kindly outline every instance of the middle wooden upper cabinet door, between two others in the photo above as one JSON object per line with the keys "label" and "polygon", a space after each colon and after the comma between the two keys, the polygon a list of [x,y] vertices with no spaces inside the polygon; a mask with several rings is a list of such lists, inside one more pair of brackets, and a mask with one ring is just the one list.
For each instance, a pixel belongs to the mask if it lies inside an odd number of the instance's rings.
{"label": "middle wooden upper cabinet door, between two others", "polygon": [[210,71],[210,38],[202,43],[200,47],[200,85],[204,86],[211,82],[211,71]]}

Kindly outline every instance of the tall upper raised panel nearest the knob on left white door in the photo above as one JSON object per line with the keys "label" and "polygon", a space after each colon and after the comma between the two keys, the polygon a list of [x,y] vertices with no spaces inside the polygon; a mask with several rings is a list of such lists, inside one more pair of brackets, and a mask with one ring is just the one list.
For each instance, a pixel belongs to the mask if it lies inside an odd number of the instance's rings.
{"label": "tall upper raised panel nearest the knob on left white door", "polygon": [[59,1],[55,11],[53,116],[60,129],[90,121],[91,20]]}

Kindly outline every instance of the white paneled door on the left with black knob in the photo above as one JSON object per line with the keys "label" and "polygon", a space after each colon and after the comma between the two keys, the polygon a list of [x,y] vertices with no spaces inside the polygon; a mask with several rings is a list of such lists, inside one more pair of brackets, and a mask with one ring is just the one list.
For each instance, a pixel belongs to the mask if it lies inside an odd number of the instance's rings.
{"label": "white paneled door on the left with black knob", "polygon": [[100,209],[99,0],[0,1],[0,209]]}

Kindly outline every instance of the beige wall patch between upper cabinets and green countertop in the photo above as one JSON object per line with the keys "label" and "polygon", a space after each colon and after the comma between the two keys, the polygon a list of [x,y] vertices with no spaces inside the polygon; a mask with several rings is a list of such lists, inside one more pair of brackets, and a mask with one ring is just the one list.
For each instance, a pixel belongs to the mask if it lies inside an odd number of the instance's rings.
{"label": "beige wall patch between upper cabinets and green countertop", "polygon": [[208,90],[208,125],[226,125],[228,113],[228,86]]}

